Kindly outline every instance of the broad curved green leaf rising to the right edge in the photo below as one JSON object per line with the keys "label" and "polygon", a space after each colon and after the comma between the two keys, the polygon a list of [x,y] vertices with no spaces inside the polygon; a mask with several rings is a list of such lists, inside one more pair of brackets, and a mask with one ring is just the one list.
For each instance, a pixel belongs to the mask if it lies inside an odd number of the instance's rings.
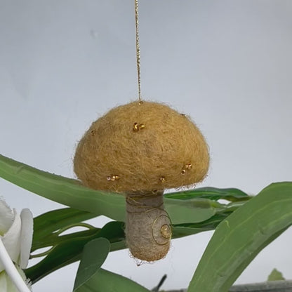
{"label": "broad curved green leaf rising to the right edge", "polygon": [[226,292],[251,260],[292,224],[292,183],[274,183],[215,230],[188,292]]}

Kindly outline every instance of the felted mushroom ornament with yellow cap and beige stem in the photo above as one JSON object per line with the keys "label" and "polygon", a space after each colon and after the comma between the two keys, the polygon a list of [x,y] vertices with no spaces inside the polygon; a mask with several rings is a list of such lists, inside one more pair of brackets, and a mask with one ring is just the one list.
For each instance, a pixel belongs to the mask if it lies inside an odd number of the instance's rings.
{"label": "felted mushroom ornament with yellow cap and beige stem", "polygon": [[157,102],[115,107],[91,124],[77,146],[74,171],[95,190],[126,194],[126,243],[133,257],[164,258],[171,221],[163,193],[206,176],[208,145],[185,114]]}

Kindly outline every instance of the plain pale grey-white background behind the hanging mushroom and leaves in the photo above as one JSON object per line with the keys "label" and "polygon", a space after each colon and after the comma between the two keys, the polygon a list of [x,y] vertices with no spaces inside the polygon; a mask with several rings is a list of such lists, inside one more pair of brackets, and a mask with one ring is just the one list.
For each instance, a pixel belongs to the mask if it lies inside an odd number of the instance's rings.
{"label": "plain pale grey-white background behind the hanging mushroom and leaves", "polygon": [[[211,150],[203,185],[256,194],[291,180],[292,1],[140,0],[142,95],[190,114]],[[0,153],[74,177],[91,122],[137,98],[133,0],[0,0]],[[59,204],[0,180],[11,207],[39,215]],[[94,220],[102,226],[105,218]],[[166,259],[137,267],[128,251],[103,267],[153,288],[187,287],[212,232],[172,241]],[[292,279],[288,230],[238,283],[274,267]],[[71,291],[78,264],[34,291]]]}

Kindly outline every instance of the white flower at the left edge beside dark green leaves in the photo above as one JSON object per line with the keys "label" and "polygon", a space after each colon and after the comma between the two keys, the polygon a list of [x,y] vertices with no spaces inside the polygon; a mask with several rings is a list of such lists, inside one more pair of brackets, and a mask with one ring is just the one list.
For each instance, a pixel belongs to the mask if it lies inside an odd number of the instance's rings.
{"label": "white flower at the left edge beside dark green leaves", "polygon": [[[21,269],[27,267],[32,248],[32,233],[33,218],[29,209],[23,209],[19,215],[15,209],[11,210],[6,202],[0,199],[0,239],[22,279],[25,279],[25,274]],[[0,291],[18,291],[8,277],[1,260]]]}

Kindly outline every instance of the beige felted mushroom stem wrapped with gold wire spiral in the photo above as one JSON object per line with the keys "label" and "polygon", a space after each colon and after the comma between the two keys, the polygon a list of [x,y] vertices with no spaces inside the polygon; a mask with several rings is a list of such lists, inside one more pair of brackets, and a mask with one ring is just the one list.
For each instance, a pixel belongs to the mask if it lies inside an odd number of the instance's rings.
{"label": "beige felted mushroom stem wrapped with gold wire spiral", "polygon": [[126,242],[134,258],[152,262],[166,256],[171,220],[164,211],[163,191],[126,196]]}

